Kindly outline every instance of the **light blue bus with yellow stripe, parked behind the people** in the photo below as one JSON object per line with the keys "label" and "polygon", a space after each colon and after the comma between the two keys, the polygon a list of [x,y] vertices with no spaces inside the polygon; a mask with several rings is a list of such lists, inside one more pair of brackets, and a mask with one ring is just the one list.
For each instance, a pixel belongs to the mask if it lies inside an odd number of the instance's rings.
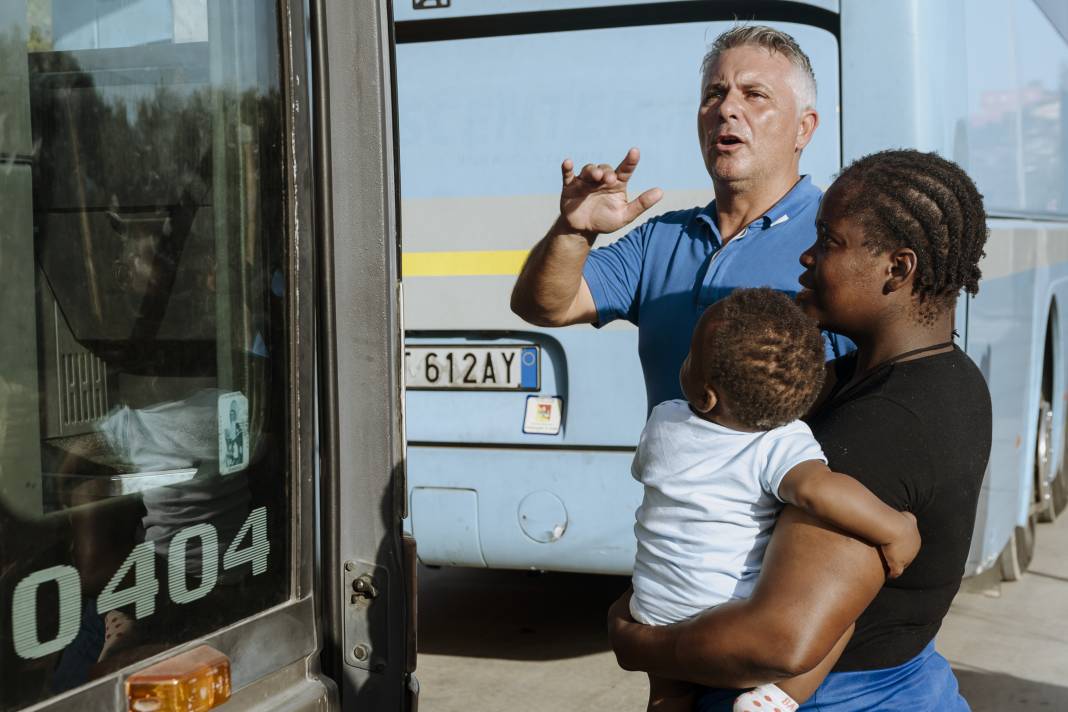
{"label": "light blue bus with yellow stripe, parked behind the people", "polygon": [[[637,329],[508,310],[559,211],[562,159],[639,146],[651,213],[712,199],[698,66],[736,21],[808,54],[827,187],[889,147],[938,152],[990,240],[958,343],[994,402],[968,574],[1018,579],[1068,500],[1068,11],[1054,0],[447,0],[396,7],[409,517],[429,565],[627,574],[646,401]],[[599,238],[608,242],[618,235]],[[515,364],[521,364],[522,368]]]}

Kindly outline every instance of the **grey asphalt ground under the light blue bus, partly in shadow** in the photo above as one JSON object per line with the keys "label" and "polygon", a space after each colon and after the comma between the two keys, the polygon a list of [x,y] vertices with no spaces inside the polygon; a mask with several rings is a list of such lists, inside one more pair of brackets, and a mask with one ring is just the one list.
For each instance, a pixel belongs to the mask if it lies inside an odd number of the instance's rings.
{"label": "grey asphalt ground under the light blue bus, partly in shadow", "polygon": [[[423,712],[644,710],[604,612],[627,580],[421,567]],[[954,601],[938,637],[975,712],[1068,710],[1068,513],[1038,528],[1031,570]]]}

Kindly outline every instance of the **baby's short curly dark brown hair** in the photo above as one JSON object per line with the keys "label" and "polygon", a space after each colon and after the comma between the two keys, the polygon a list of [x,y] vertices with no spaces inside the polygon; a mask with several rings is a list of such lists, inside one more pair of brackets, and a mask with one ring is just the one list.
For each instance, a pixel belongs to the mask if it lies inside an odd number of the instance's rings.
{"label": "baby's short curly dark brown hair", "polygon": [[702,364],[731,414],[770,430],[804,415],[823,384],[823,336],[774,289],[736,289],[704,319]]}

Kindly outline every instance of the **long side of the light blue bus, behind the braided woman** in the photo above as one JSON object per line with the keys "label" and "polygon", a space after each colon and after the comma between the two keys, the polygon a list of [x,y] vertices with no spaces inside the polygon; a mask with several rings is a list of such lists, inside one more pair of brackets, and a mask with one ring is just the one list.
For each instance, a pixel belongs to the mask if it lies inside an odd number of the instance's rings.
{"label": "long side of the light blue bus, behind the braided woman", "polygon": [[[843,0],[841,13],[844,161],[897,146],[934,151],[969,172],[988,215],[1005,218],[991,220],[980,292],[962,331],[994,405],[974,573],[1030,516],[1050,310],[1068,298],[1063,232],[1050,221],[1068,212],[1057,68],[1068,59],[1065,28],[1032,0]],[[1055,464],[1068,421],[1057,396],[1068,381],[1065,335],[1058,329],[1053,345]]]}

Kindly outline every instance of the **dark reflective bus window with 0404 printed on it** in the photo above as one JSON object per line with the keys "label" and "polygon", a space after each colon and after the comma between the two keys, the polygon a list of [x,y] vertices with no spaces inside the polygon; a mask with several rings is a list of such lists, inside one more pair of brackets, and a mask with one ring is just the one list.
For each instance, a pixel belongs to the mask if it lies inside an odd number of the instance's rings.
{"label": "dark reflective bus window with 0404 printed on it", "polygon": [[0,10],[0,710],[292,596],[279,37]]}

